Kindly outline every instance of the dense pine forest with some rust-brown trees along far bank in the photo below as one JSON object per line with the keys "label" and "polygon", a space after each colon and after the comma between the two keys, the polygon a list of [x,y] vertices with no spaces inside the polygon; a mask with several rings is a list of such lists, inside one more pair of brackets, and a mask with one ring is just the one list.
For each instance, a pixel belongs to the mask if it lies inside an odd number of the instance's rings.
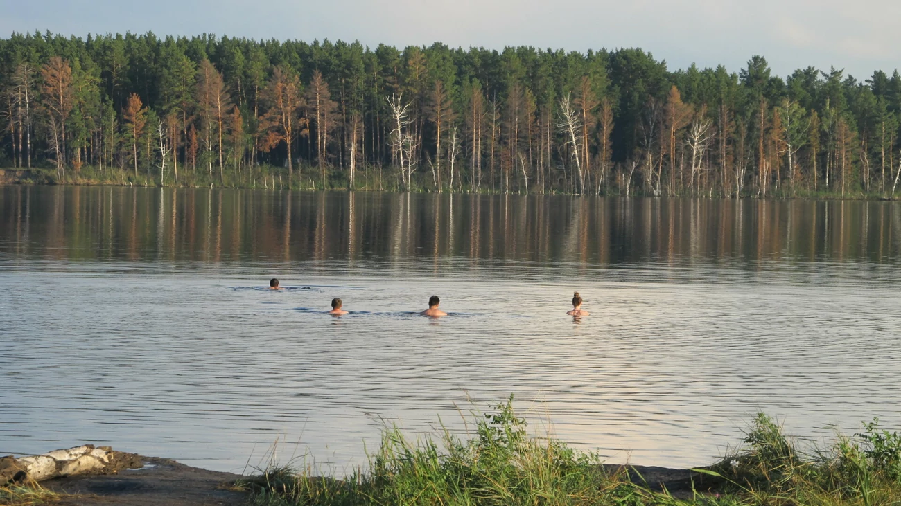
{"label": "dense pine forest with some rust-brown trees along far bank", "polygon": [[55,184],[891,197],[901,76],[641,49],[0,40],[0,168]]}

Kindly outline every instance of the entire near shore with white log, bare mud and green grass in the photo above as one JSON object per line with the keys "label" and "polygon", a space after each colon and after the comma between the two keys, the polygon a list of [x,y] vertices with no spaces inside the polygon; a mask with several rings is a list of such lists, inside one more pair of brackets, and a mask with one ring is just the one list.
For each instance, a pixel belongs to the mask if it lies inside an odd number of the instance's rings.
{"label": "entire near shore with white log, bare mud and green grass", "polygon": [[92,445],[9,456],[0,458],[0,504],[751,506],[894,504],[901,497],[901,435],[880,429],[878,420],[810,451],[759,413],[732,456],[678,469],[607,464],[597,453],[531,436],[512,402],[477,417],[476,435],[465,441],[447,432],[411,439],[386,429],[369,466],[340,477],[296,462],[223,473]]}

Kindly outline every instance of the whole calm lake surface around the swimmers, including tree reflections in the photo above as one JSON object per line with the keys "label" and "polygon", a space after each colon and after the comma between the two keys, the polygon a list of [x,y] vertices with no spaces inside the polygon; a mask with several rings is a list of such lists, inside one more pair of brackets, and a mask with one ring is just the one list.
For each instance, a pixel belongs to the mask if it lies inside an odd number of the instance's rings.
{"label": "whole calm lake surface around the swimmers, including tree reflections", "polygon": [[897,203],[0,187],[0,455],[341,472],[510,393],[610,462],[898,429],[899,267]]}

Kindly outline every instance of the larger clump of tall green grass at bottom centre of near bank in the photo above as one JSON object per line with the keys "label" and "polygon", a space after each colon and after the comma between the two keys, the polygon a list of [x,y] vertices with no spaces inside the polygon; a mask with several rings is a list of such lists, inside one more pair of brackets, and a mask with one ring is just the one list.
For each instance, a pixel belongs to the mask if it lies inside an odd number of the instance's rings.
{"label": "larger clump of tall green grass at bottom centre of near bank", "polygon": [[343,480],[277,467],[241,485],[252,492],[252,503],[265,505],[644,503],[641,489],[600,464],[595,453],[531,437],[511,398],[478,416],[465,440],[446,429],[411,439],[387,428],[368,468]]}

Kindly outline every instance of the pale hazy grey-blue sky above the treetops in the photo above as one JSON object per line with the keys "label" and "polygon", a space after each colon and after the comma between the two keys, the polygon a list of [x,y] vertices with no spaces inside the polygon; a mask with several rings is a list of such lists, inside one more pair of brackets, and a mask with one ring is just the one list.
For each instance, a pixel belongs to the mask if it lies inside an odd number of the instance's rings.
{"label": "pale hazy grey-blue sky above the treetops", "polygon": [[779,75],[813,65],[858,78],[901,66],[898,0],[0,0],[0,34],[147,32],[359,40],[375,47],[641,47],[669,68]]}

